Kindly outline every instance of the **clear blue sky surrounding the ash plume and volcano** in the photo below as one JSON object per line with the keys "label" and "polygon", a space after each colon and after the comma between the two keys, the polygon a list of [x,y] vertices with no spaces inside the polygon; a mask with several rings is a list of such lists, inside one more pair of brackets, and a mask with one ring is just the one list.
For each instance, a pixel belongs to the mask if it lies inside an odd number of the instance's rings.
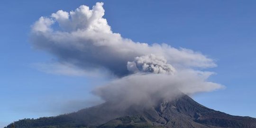
{"label": "clear blue sky surrounding the ash plume and volcano", "polygon": [[[122,37],[185,47],[217,60],[218,67],[209,69],[217,73],[210,81],[226,89],[197,94],[193,97],[196,101],[231,115],[256,118],[255,0],[102,1],[104,17]],[[28,34],[41,16],[95,3],[0,1],[0,127],[18,119],[54,116],[86,107],[83,101],[91,98],[92,85],[105,79],[95,82],[38,71],[31,65],[47,62],[52,56],[32,49]],[[73,103],[74,108],[70,107]]]}

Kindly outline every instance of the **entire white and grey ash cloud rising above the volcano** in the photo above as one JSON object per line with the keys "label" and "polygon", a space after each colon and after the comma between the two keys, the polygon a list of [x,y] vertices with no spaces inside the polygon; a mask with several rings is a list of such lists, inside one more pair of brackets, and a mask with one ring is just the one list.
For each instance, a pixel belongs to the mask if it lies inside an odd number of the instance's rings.
{"label": "entire white and grey ash cloud rising above the volcano", "polygon": [[55,56],[56,64],[68,65],[68,71],[58,68],[57,73],[104,69],[102,73],[115,75],[116,79],[93,91],[105,101],[152,104],[174,97],[177,90],[194,94],[223,87],[207,82],[211,73],[194,70],[215,67],[214,60],[186,48],[124,38],[112,32],[104,14],[102,2],[92,9],[82,5],[70,12],[58,10],[31,26],[30,42]]}

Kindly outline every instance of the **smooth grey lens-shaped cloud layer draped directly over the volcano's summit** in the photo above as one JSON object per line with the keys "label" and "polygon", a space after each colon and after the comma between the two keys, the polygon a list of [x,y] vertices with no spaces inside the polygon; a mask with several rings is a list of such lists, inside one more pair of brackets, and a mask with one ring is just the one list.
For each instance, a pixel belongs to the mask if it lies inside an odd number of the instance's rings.
{"label": "smooth grey lens-shaped cloud layer draped directly over the volcano's summit", "polygon": [[207,82],[208,73],[200,74],[192,70],[183,70],[174,75],[136,73],[116,79],[107,85],[96,88],[93,93],[104,101],[114,102],[119,108],[131,105],[152,106],[159,100],[170,101],[182,95],[213,91],[221,85]]}

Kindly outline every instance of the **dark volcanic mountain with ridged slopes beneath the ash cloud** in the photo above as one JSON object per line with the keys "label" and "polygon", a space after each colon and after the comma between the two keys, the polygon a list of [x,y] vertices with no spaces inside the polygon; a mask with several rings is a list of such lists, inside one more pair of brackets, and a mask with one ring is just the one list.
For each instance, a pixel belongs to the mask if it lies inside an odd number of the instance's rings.
{"label": "dark volcanic mountain with ridged slopes beneath the ash cloud", "polygon": [[49,118],[22,119],[6,128],[256,128],[256,119],[212,110],[183,95],[155,107],[120,110],[110,102]]}

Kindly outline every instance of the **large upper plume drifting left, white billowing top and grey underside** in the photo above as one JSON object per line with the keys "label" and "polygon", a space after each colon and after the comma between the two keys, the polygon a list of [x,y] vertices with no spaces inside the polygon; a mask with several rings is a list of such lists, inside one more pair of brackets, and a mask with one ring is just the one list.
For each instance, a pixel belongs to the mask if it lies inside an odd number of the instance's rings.
{"label": "large upper plume drifting left, white billowing top and grey underside", "polygon": [[102,6],[100,2],[92,9],[82,5],[74,11],[59,10],[39,18],[31,30],[33,46],[52,53],[60,62],[86,70],[104,68],[117,76],[128,74],[128,61],[151,54],[163,56],[174,67],[216,66],[212,59],[189,49],[133,42],[113,33],[103,18]]}

